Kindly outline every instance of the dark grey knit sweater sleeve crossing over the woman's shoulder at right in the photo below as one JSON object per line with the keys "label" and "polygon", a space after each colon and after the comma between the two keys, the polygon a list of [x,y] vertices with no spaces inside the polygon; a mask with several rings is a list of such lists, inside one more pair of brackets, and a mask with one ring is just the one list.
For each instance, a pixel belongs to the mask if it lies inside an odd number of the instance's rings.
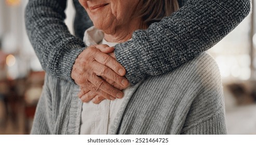
{"label": "dark grey knit sweater sleeve crossing over the woman's shoulder at right", "polygon": [[126,68],[131,84],[164,74],[217,44],[249,11],[250,0],[188,0],[172,16],[117,45],[116,59]]}

